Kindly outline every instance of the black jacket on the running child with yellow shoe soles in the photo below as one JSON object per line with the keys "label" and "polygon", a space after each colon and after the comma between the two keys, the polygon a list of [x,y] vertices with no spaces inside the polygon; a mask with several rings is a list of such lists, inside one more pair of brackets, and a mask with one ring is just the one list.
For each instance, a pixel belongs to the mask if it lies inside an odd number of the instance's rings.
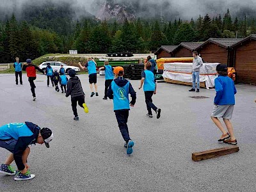
{"label": "black jacket on the running child with yellow shoe soles", "polygon": [[66,97],[69,95],[71,95],[71,97],[84,95],[81,81],[77,76],[70,77],[68,80]]}

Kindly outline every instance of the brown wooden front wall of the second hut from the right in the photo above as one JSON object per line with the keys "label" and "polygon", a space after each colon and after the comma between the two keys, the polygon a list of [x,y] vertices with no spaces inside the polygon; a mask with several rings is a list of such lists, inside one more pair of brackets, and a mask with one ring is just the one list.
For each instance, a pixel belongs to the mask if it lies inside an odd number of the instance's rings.
{"label": "brown wooden front wall of the second hut from the right", "polygon": [[205,62],[228,64],[228,51],[219,45],[209,43],[198,49],[198,52]]}

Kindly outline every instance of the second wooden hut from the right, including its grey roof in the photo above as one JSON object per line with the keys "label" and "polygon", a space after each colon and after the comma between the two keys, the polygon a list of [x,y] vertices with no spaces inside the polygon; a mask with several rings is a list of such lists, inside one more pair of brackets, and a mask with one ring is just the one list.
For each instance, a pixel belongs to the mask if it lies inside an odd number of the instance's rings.
{"label": "second wooden hut from the right, including its grey roof", "polygon": [[196,48],[200,56],[208,63],[223,63],[234,67],[234,50],[230,47],[241,38],[209,38],[204,44]]}

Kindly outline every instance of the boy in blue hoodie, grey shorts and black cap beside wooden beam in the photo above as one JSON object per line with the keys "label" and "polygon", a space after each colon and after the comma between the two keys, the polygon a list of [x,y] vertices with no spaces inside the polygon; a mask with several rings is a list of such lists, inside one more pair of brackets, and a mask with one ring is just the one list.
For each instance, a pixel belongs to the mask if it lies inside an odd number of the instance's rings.
{"label": "boy in blue hoodie, grey shorts and black cap beside wooden beam", "polygon": [[[227,65],[219,64],[216,67],[218,77],[214,80],[216,97],[214,99],[214,109],[211,114],[212,121],[222,132],[219,142],[223,141],[231,145],[237,145],[237,140],[234,135],[233,126],[230,122],[232,118],[234,105],[236,86],[234,81],[228,77]],[[221,125],[219,118],[223,118],[223,121],[227,127],[227,131]]]}

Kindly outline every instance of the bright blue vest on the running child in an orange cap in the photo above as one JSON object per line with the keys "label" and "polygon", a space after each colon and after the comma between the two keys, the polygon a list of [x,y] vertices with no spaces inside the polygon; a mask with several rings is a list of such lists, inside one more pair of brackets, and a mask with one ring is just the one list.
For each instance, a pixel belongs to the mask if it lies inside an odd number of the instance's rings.
{"label": "bright blue vest on the running child in an orange cap", "polygon": [[129,85],[130,83],[128,82],[125,86],[120,87],[115,83],[115,81],[112,81],[111,89],[113,90],[114,111],[130,109]]}

